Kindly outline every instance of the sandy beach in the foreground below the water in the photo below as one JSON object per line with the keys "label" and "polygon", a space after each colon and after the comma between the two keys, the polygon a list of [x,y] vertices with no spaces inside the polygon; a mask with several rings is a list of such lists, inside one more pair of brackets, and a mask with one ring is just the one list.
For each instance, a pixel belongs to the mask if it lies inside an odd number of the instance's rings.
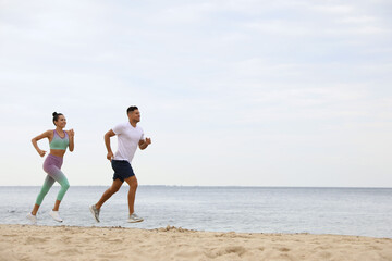
{"label": "sandy beach in the foreground below the water", "polygon": [[392,260],[392,239],[0,225],[0,260]]}

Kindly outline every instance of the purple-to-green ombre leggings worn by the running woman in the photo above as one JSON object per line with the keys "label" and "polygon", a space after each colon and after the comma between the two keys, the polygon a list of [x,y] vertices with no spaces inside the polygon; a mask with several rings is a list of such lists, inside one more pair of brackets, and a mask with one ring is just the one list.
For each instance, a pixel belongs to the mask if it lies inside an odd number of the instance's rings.
{"label": "purple-to-green ombre leggings worn by the running woman", "polygon": [[58,182],[61,185],[57,199],[60,201],[63,199],[70,184],[65,175],[61,172],[62,162],[63,159],[61,157],[48,154],[44,162],[44,171],[48,173],[48,175],[45,178],[40,192],[38,194],[36,204],[40,206],[42,203],[45,196],[48,194],[51,186],[53,186],[54,182]]}

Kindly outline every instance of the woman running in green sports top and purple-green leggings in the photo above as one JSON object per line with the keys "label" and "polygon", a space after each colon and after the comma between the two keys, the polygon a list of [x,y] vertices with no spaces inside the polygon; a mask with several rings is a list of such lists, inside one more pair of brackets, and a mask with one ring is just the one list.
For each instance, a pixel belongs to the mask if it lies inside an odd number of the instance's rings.
{"label": "woman running in green sports top and purple-green leggings", "polygon": [[70,187],[70,184],[65,175],[61,172],[61,165],[63,162],[63,156],[65,154],[66,147],[70,151],[74,150],[74,130],[63,130],[66,125],[66,120],[63,114],[53,112],[53,124],[56,129],[50,129],[41,135],[32,139],[34,148],[37,150],[40,157],[44,157],[46,151],[39,149],[37,141],[42,138],[49,139],[50,154],[46,158],[44,162],[44,171],[48,173],[42,188],[37,197],[36,203],[33,208],[33,211],[27,214],[27,219],[35,224],[37,222],[37,212],[39,206],[41,204],[45,196],[49,191],[50,187],[58,182],[61,185],[60,191],[57,196],[54,208],[50,211],[49,215],[58,222],[62,222],[62,219],[59,215],[59,207],[62,198],[64,197],[66,190]]}

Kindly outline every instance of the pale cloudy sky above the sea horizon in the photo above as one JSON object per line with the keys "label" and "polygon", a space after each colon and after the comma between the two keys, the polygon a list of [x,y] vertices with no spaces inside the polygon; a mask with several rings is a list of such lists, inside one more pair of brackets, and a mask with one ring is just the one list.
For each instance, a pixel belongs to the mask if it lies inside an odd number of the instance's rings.
{"label": "pale cloudy sky above the sea horizon", "polygon": [[109,186],[137,105],[140,185],[392,187],[388,0],[0,0],[0,88],[2,186],[44,183],[54,111],[71,186]]}

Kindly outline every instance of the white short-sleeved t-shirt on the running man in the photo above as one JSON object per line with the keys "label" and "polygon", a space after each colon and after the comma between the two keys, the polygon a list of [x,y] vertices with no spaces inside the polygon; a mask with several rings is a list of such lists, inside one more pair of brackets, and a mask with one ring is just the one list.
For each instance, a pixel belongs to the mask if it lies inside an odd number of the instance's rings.
{"label": "white short-sleeved t-shirt on the running man", "polygon": [[112,130],[118,136],[118,151],[113,159],[126,160],[131,163],[138,142],[144,139],[143,129],[139,126],[133,127],[130,122],[126,122],[117,125]]}

